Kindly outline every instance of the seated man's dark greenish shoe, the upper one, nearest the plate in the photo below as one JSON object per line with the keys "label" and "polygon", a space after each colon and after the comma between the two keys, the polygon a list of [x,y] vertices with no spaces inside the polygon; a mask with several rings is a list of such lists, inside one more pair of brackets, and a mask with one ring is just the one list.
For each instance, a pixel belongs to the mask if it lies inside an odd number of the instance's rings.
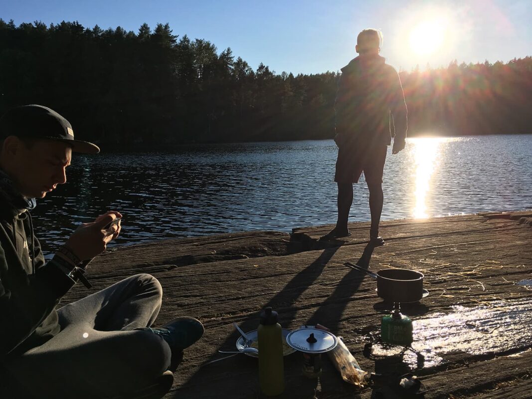
{"label": "seated man's dark greenish shoe, the upper one, nearest the plate", "polygon": [[162,327],[150,329],[167,342],[172,352],[188,348],[200,339],[205,331],[200,320],[193,317],[178,317]]}

